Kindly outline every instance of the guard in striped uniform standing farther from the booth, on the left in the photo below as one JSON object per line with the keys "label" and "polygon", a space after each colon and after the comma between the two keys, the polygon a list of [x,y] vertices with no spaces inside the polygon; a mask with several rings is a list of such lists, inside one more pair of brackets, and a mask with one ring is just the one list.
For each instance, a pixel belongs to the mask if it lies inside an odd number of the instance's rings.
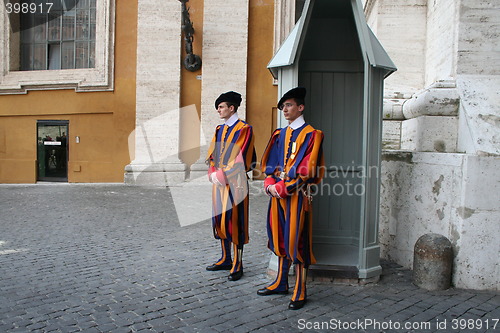
{"label": "guard in striped uniform standing farther from the booth, on the left", "polygon": [[[255,164],[252,126],[239,119],[241,95],[221,94],[215,109],[224,124],[215,129],[208,150],[208,179],[212,186],[212,227],[222,255],[208,271],[229,270],[228,279],[243,276],[243,245],[248,243],[248,176]],[[231,247],[234,256],[231,259]]]}

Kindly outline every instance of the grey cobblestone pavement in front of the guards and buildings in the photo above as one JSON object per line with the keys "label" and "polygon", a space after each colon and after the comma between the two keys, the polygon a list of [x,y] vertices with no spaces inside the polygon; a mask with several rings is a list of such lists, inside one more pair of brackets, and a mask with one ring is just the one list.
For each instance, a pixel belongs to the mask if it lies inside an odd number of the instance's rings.
{"label": "grey cobblestone pavement in front of the guards and buildings", "polygon": [[232,282],[205,270],[219,256],[210,221],[180,227],[168,189],[0,185],[0,332],[500,332],[499,293],[424,291],[389,262],[377,284],[310,282],[299,311],[258,296],[266,202],[252,193]]}

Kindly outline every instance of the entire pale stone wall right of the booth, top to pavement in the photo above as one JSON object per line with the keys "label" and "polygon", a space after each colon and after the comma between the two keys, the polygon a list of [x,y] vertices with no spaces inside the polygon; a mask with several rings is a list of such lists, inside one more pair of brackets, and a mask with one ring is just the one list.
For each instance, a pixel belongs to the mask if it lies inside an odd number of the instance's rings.
{"label": "entire pale stone wall right of the booth, top to pavement", "polygon": [[384,92],[382,257],[411,268],[416,240],[439,233],[453,243],[456,287],[498,290],[495,2],[367,0],[365,13],[398,67]]}

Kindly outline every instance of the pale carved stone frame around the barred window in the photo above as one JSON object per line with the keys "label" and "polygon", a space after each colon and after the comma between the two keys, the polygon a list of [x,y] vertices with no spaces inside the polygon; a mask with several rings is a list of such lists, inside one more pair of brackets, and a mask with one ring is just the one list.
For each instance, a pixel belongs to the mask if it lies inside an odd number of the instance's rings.
{"label": "pale carved stone frame around the barred window", "polygon": [[[11,44],[20,43],[20,32],[13,34],[6,11],[0,14],[0,94],[26,94],[30,90],[74,89],[114,90],[115,0],[96,2],[95,67],[55,70],[12,70],[19,67],[19,52]],[[16,59],[19,58],[19,59]]]}

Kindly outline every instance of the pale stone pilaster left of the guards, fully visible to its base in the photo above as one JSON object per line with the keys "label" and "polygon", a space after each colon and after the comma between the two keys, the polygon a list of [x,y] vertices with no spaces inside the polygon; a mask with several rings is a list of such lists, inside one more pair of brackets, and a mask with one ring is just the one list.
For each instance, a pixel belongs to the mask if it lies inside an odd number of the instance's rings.
{"label": "pale stone pilaster left of the guards, fully visible to its base", "polygon": [[139,0],[136,129],[125,183],[172,185],[184,181],[179,160],[181,4]]}

